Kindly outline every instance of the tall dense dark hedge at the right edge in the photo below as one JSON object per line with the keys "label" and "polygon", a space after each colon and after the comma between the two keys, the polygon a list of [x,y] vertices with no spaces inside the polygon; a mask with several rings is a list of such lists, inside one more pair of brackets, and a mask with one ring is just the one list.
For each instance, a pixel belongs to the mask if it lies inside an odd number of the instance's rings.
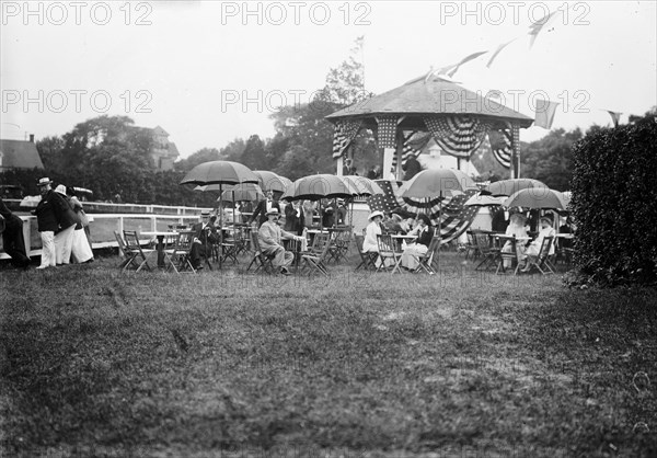
{"label": "tall dense dark hedge at the right edge", "polygon": [[657,123],[597,128],[574,148],[575,263],[607,286],[657,279]]}

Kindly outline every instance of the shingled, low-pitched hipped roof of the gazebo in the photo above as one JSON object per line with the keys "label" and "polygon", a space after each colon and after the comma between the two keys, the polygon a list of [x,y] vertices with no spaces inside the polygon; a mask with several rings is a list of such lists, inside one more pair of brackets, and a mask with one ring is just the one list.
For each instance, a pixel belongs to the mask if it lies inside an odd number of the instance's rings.
{"label": "shingled, low-pitched hipped roof of the gazebo", "polygon": [[[406,115],[405,123],[413,126],[425,115],[470,114],[499,121],[511,121],[529,127],[533,119],[507,106],[465,89],[456,82],[433,77],[408,81],[371,99],[355,103],[326,116],[330,122],[341,118],[372,118],[377,115]],[[414,119],[415,118],[415,119]],[[373,121],[373,119],[372,119]]]}

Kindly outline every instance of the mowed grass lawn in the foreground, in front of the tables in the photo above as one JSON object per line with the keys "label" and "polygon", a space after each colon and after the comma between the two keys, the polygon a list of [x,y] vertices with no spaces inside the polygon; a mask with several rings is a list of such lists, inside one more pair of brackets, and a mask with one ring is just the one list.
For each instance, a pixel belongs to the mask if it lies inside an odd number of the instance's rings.
{"label": "mowed grass lawn in the foreground, in front of the tables", "polygon": [[1,457],[657,456],[654,289],[117,264],[0,270]]}

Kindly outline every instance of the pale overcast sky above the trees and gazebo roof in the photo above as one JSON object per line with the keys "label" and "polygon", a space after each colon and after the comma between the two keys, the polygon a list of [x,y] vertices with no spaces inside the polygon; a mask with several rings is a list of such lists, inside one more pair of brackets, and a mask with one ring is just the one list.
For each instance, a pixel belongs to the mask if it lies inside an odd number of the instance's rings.
{"label": "pale overcast sky above the trees and gazebo roof", "polygon": [[[308,102],[358,36],[374,93],[517,38],[453,79],[531,117],[533,96],[548,96],[566,129],[657,105],[653,1],[25,4],[2,1],[2,138],[62,135],[101,114],[162,126],[183,156],[272,137],[276,106]],[[556,10],[530,48],[529,25]]]}

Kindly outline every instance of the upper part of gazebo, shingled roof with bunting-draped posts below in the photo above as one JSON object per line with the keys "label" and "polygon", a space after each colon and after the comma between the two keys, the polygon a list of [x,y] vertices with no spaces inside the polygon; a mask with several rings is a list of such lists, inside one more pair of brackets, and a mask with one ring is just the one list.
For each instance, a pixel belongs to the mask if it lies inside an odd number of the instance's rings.
{"label": "upper part of gazebo, shingled roof with bunting-draped posts below", "polygon": [[533,119],[442,76],[420,77],[326,116],[334,125],[337,174],[353,158],[360,129],[371,129],[383,150],[383,173],[402,176],[402,163],[434,138],[448,154],[469,161],[488,136],[495,158],[519,178],[519,130]]}

